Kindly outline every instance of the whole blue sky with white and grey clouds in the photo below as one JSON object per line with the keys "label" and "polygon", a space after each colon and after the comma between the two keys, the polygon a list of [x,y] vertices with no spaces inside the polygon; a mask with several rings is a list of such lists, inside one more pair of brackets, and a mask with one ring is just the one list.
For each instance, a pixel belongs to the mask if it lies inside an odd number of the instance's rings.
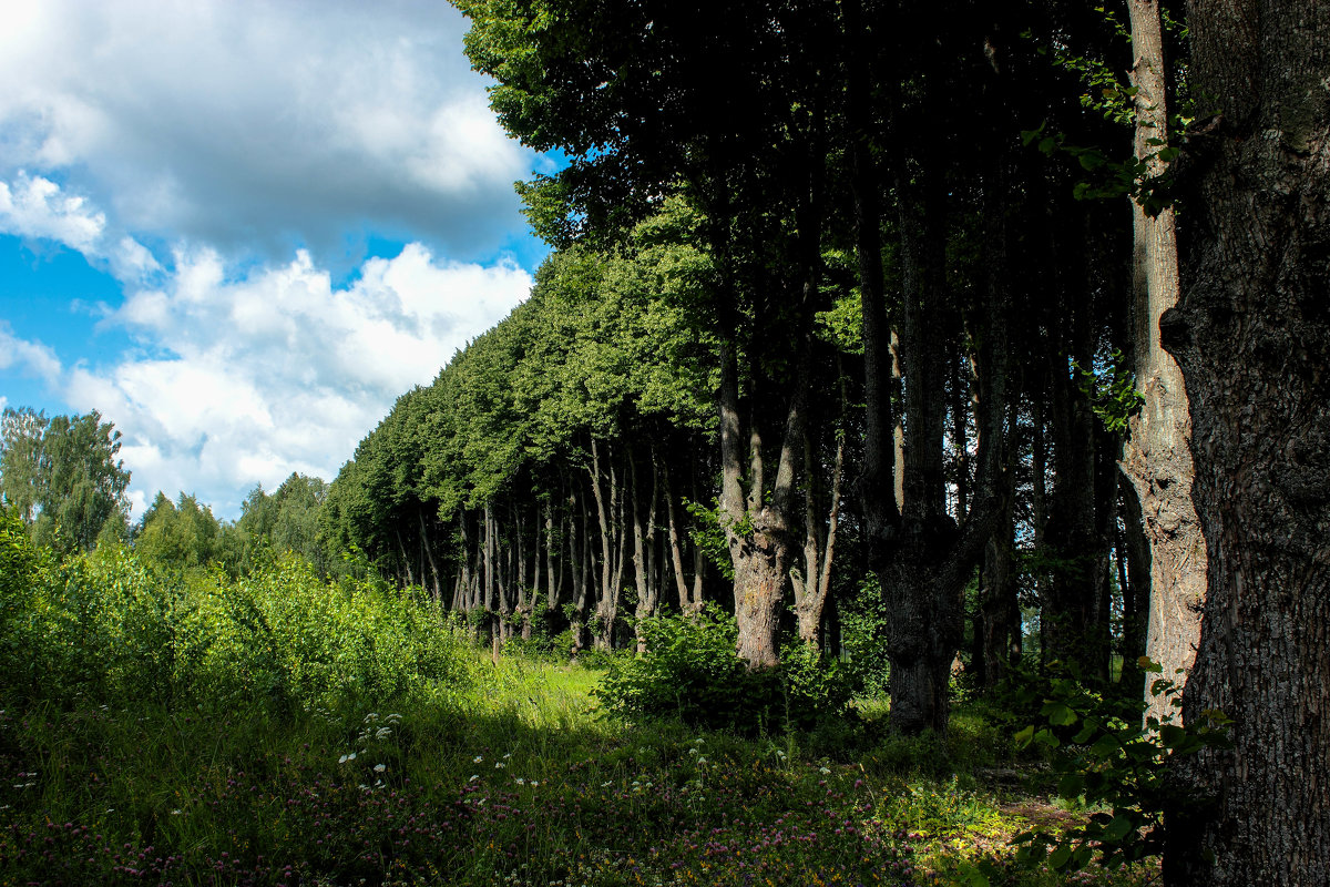
{"label": "whole blue sky with white and grey clouds", "polygon": [[97,410],[137,517],[355,445],[545,247],[443,0],[0,0],[0,407]]}

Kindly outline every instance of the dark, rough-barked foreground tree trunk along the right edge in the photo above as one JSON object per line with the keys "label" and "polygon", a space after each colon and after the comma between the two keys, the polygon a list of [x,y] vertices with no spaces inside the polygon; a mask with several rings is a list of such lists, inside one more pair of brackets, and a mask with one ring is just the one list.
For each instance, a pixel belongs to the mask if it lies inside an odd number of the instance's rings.
{"label": "dark, rough-barked foreground tree trunk along the right edge", "polygon": [[1233,747],[1178,767],[1169,884],[1330,883],[1330,3],[1192,0],[1178,306],[1208,590],[1184,718]]}

